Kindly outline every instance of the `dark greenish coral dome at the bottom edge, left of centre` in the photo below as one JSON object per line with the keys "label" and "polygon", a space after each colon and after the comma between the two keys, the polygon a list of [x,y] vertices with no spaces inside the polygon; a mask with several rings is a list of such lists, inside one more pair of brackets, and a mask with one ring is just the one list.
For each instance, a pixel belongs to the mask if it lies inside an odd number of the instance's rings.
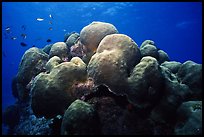
{"label": "dark greenish coral dome at the bottom edge, left of centre", "polygon": [[65,111],[61,126],[61,135],[99,134],[99,119],[94,107],[79,99]]}

